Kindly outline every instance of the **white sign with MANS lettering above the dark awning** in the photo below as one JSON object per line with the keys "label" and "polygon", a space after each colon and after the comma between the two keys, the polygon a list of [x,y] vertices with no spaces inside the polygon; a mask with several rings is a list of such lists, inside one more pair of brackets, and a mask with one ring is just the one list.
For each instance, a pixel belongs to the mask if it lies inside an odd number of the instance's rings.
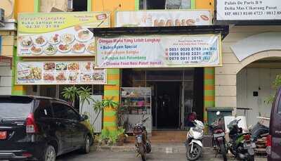
{"label": "white sign with MANS lettering above the dark awning", "polygon": [[209,10],[117,11],[116,27],[211,25]]}

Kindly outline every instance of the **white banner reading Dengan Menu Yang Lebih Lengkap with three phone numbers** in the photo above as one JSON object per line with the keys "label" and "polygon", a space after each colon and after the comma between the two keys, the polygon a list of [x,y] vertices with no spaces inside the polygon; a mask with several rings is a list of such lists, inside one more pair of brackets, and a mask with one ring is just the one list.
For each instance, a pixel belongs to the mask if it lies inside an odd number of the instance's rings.
{"label": "white banner reading Dengan Menu Yang Lebih Lengkap with three phone numbers", "polygon": [[218,34],[99,37],[97,49],[100,68],[221,65]]}

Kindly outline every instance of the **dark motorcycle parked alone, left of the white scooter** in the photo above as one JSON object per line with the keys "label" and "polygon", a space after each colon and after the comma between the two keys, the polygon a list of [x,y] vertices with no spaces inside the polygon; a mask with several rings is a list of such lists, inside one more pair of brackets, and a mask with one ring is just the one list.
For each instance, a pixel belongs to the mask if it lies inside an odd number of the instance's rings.
{"label": "dark motorcycle parked alone, left of the white scooter", "polygon": [[[144,117],[145,115],[143,115]],[[141,155],[141,159],[143,161],[146,160],[145,155],[146,153],[151,152],[151,143],[148,140],[148,131],[143,124],[148,120],[148,118],[141,120],[139,124],[136,124],[133,127],[133,135],[136,136],[135,146],[136,146],[136,153],[137,156]]]}

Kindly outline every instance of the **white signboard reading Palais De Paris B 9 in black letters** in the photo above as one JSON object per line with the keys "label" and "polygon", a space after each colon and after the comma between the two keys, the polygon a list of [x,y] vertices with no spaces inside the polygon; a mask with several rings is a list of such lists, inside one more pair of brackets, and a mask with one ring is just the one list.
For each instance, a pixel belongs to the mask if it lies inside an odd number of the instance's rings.
{"label": "white signboard reading Palais De Paris B 9 in black letters", "polygon": [[280,0],[217,0],[216,20],[281,20]]}

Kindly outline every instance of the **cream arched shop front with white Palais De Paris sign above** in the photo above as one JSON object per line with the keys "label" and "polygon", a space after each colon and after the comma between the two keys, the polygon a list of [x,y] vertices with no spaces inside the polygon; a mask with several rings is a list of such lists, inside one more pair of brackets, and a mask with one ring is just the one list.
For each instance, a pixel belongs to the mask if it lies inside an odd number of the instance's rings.
{"label": "cream arched shop front with white Palais De Paris sign above", "polygon": [[216,107],[237,108],[235,114],[246,114],[248,125],[256,124],[258,116],[270,117],[266,100],[275,94],[273,80],[281,74],[280,9],[275,0],[219,1],[216,6],[216,23],[233,24],[222,44],[223,66],[216,67]]}

